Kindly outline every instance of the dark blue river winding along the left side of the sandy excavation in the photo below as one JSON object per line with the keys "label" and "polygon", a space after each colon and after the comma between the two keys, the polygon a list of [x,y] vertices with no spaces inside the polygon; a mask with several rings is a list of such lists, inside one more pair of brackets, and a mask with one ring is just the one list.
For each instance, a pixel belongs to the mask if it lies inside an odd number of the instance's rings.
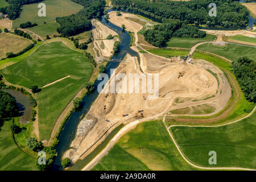
{"label": "dark blue river winding along the left side of the sandy excavation", "polygon": [[[101,18],[101,23],[111,28],[115,32],[117,32],[121,42],[119,47],[120,51],[117,54],[112,56],[112,60],[115,60],[115,61],[109,61],[109,63],[106,65],[106,74],[108,74],[110,78],[111,76],[110,69],[117,68],[119,65],[118,61],[123,60],[123,58],[126,56],[127,53],[129,53],[131,56],[137,56],[138,60],[139,60],[139,55],[136,51],[133,51],[132,49],[130,49],[129,44],[131,41],[131,37],[126,31],[123,32],[121,27],[115,26],[113,23],[110,23],[110,22],[106,23],[104,15]],[[67,122],[65,123],[63,130],[61,131],[58,138],[59,144],[56,147],[57,157],[53,162],[52,170],[54,171],[63,170],[63,167],[61,166],[61,158],[64,155],[65,151],[69,150],[69,146],[72,140],[75,139],[77,126],[79,125],[81,118],[89,111],[90,106],[98,97],[99,93],[97,92],[97,85],[100,82],[101,81],[97,80],[94,84],[95,86],[94,92],[89,93],[82,99],[82,108],[72,113],[71,116],[67,119]],[[74,165],[74,167],[75,166],[76,164]]]}

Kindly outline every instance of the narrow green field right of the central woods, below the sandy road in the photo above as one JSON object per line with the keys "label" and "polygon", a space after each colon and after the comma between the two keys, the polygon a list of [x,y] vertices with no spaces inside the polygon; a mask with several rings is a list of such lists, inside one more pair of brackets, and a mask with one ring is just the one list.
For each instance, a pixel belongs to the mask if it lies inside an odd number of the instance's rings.
{"label": "narrow green field right of the central woods, below the sandy road", "polygon": [[206,41],[213,41],[216,38],[215,35],[207,34],[204,38],[193,39],[193,38],[171,38],[166,44],[167,47],[181,47],[191,48],[195,44]]}

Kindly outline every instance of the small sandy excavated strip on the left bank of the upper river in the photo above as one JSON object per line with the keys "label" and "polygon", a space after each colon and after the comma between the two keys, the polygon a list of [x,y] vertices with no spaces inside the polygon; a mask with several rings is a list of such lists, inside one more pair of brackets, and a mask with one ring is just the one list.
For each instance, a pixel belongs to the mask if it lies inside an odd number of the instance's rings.
{"label": "small sandy excavated strip on the left bank of the upper river", "polygon": [[95,28],[92,30],[94,38],[94,51],[96,52],[96,61],[100,60],[101,57],[111,57],[113,55],[114,42],[119,40],[117,37],[113,39],[106,39],[110,34],[112,36],[118,35],[117,32],[104,26],[100,21],[93,19],[92,24]]}

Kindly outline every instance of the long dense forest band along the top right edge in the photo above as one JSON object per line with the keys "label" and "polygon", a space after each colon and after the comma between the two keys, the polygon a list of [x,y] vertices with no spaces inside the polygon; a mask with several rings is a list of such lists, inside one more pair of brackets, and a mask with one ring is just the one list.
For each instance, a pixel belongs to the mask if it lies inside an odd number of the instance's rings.
{"label": "long dense forest band along the top right edge", "polygon": [[[217,16],[210,17],[208,7],[216,3]],[[249,11],[234,0],[112,0],[113,9],[142,13],[165,22],[179,19],[186,24],[205,24],[208,27],[245,27],[249,21]]]}

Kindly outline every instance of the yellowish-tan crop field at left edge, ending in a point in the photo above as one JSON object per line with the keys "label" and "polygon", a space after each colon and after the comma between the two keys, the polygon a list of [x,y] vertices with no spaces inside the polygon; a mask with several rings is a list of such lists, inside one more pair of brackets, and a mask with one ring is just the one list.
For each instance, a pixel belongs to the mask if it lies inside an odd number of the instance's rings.
{"label": "yellowish-tan crop field at left edge, ending in a point", "polygon": [[4,45],[1,47],[0,59],[6,57],[7,52],[17,53],[33,43],[31,40],[25,39],[22,36],[4,32],[0,34],[0,42]]}

